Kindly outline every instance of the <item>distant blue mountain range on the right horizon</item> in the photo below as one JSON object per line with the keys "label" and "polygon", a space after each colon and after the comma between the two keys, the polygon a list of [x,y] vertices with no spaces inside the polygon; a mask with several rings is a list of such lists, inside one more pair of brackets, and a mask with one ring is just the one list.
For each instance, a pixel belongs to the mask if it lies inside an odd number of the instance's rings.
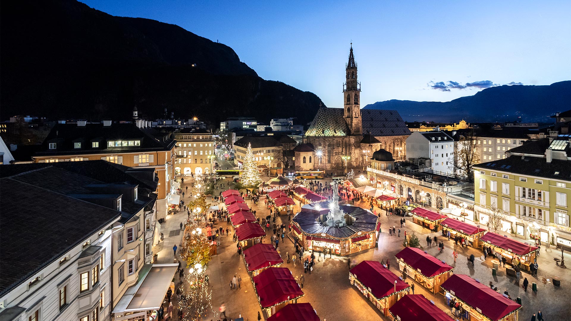
{"label": "distant blue mountain range on the right horizon", "polygon": [[549,117],[571,109],[571,81],[548,86],[498,86],[450,102],[390,101],[369,104],[364,109],[399,111],[405,121],[433,122],[553,122]]}

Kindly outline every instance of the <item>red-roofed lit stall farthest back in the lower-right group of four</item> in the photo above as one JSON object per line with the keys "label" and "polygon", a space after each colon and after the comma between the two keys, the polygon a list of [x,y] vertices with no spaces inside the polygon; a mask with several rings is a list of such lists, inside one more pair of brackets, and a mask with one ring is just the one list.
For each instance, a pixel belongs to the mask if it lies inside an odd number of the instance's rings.
{"label": "red-roofed lit stall farthest back in the lower-right group of four", "polygon": [[453,267],[416,247],[405,247],[395,255],[401,271],[407,269],[407,275],[415,279],[432,293],[440,291],[454,270]]}

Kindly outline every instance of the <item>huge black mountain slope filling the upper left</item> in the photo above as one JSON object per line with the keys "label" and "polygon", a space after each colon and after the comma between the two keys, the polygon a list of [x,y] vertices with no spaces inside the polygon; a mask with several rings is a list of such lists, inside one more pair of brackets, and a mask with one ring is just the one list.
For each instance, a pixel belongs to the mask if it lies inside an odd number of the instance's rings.
{"label": "huge black mountain slope filling the upper left", "polygon": [[297,117],[321,100],[265,81],[232,48],[176,25],[114,17],[73,0],[3,1],[0,117]]}

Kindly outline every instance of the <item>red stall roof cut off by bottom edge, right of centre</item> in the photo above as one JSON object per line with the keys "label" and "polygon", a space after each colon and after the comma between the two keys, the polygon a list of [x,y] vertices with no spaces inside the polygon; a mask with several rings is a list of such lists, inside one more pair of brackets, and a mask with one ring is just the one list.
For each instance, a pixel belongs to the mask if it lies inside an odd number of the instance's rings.
{"label": "red stall roof cut off by bottom edge, right of centre", "polygon": [[453,319],[422,294],[407,294],[389,308],[400,321],[452,321]]}

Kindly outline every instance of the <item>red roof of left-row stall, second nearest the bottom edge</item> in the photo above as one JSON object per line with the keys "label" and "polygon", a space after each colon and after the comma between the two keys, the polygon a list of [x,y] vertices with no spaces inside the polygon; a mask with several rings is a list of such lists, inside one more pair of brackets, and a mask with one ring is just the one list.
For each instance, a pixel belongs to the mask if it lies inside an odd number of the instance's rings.
{"label": "red roof of left-row stall, second nearest the bottom edge", "polygon": [[288,296],[290,300],[303,296],[303,291],[287,267],[266,268],[254,276],[254,287],[263,308],[286,302]]}

